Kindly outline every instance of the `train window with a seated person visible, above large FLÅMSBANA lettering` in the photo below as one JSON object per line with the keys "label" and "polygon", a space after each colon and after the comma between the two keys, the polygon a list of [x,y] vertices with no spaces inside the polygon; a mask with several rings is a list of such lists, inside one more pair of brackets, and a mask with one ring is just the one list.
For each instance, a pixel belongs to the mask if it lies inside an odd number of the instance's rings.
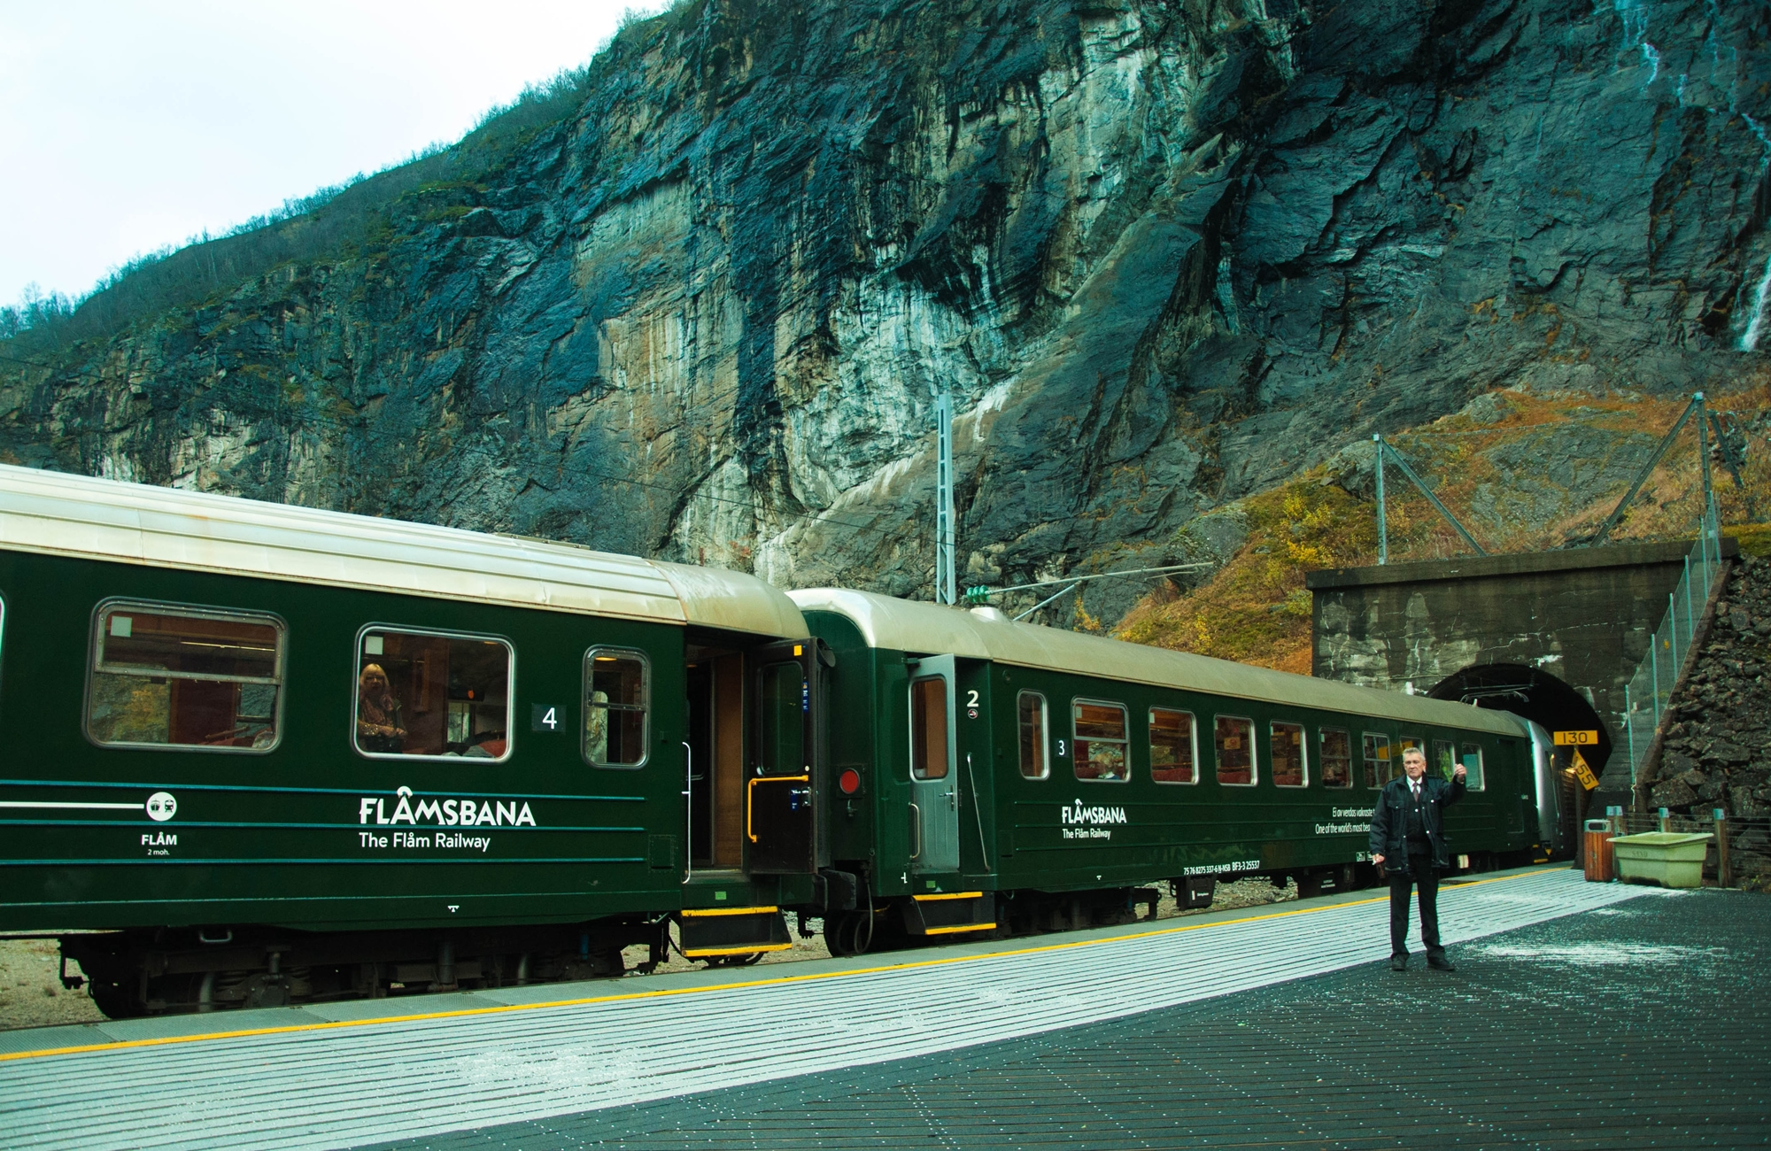
{"label": "train window with a seated person visible, above large FL\u00c5MSBANA lettering", "polygon": [[365,627],[356,643],[356,749],[365,756],[510,754],[510,645]]}

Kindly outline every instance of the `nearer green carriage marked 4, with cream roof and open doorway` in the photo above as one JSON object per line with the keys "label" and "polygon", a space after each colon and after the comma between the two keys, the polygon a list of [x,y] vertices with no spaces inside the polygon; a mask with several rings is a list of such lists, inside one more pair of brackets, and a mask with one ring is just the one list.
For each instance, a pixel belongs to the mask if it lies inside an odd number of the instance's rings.
{"label": "nearer green carriage marked 4, with cream roof and open doorway", "polygon": [[618,972],[696,816],[708,901],[809,891],[809,820],[740,809],[815,652],[749,576],[4,467],[0,613],[0,930],[104,931],[108,1013]]}

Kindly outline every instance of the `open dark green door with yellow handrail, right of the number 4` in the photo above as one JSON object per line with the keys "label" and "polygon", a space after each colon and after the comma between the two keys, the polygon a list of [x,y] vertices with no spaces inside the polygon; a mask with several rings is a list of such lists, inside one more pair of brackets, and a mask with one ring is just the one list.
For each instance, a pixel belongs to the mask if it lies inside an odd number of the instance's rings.
{"label": "open dark green door with yellow handrail, right of the number 4", "polygon": [[818,641],[747,655],[751,745],[744,779],[744,869],[806,875],[824,862],[816,797],[824,784],[824,668]]}

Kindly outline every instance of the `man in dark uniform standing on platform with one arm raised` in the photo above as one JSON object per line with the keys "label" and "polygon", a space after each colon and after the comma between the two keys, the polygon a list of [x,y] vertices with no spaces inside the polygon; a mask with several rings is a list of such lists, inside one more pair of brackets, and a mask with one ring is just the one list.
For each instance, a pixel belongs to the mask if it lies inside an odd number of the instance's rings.
{"label": "man in dark uniform standing on platform with one arm raised", "polygon": [[1427,779],[1427,756],[1403,753],[1403,777],[1383,784],[1371,813],[1371,862],[1390,873],[1390,970],[1408,970],[1408,896],[1420,887],[1420,942],[1427,967],[1458,970],[1438,942],[1438,875],[1450,868],[1442,809],[1463,799],[1463,763],[1450,783]]}

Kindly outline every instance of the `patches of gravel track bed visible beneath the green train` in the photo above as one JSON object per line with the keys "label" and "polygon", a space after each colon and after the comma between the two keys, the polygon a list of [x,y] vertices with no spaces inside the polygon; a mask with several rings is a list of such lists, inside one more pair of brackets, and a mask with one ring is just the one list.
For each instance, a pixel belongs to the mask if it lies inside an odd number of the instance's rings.
{"label": "patches of gravel track bed visible beneath the green train", "polygon": [[[1284,903],[1296,900],[1298,887],[1291,884],[1284,889],[1273,887],[1264,878],[1218,884],[1211,910],[1231,910],[1238,907],[1259,907],[1263,903]],[[1174,919],[1178,915],[1201,915],[1204,912],[1183,912],[1171,896],[1164,896],[1156,905],[1156,919]],[[786,951],[765,954],[762,963],[799,963],[802,960],[827,960],[829,949],[824,935],[799,939],[792,931],[793,919],[788,917],[793,946]],[[627,965],[636,967],[646,960],[645,947],[629,947]],[[668,963],[659,965],[657,974],[673,970],[696,970],[700,962],[684,960],[671,954]],[[71,970],[74,970],[71,967]],[[0,940],[0,1031],[14,1027],[44,1027],[50,1024],[92,1024],[103,1020],[97,1006],[85,992],[62,990],[58,979],[58,951],[53,939],[7,939]]]}

